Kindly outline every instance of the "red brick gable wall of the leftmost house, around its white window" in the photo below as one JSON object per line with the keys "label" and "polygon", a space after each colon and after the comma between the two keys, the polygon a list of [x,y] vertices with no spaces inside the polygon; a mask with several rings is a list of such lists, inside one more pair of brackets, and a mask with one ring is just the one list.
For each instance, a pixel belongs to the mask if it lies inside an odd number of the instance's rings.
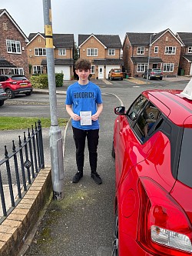
{"label": "red brick gable wall of the leftmost house, around its white window", "polygon": [[[6,23],[7,30],[4,30],[4,23]],[[24,74],[28,77],[28,55],[25,38],[5,14],[0,17],[0,35],[0,55],[2,58],[5,58],[8,62],[11,62],[18,68],[23,68]],[[8,53],[6,39],[21,42],[22,53]]]}

